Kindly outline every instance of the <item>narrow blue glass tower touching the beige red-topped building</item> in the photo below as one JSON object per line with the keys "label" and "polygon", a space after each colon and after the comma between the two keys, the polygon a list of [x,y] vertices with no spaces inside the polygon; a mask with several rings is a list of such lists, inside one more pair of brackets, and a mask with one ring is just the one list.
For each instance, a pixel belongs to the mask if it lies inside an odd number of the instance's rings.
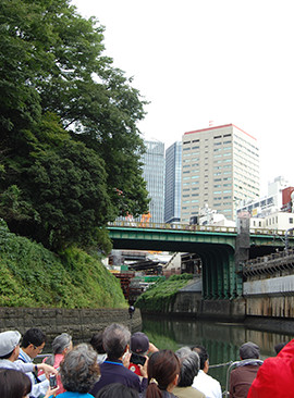
{"label": "narrow blue glass tower touching the beige red-topped building", "polygon": [[164,223],[181,221],[182,142],[166,151]]}

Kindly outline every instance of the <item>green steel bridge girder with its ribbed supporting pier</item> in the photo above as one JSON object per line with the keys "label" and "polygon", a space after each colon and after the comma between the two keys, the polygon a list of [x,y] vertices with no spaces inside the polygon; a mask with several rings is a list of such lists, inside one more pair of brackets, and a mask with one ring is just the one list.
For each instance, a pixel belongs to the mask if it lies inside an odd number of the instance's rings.
{"label": "green steel bridge girder with its ribbed supporting pier", "polygon": [[[203,261],[205,299],[232,299],[242,295],[242,277],[235,264],[235,232],[109,226],[115,249],[162,250],[197,253]],[[292,240],[293,245],[293,240]],[[250,247],[283,247],[274,235],[250,235]]]}

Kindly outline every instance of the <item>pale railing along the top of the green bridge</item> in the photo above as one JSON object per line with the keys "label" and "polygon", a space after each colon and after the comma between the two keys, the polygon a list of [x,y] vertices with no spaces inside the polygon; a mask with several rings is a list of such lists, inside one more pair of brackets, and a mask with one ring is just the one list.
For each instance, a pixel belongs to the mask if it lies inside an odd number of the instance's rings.
{"label": "pale railing along the top of the green bridge", "polygon": [[[189,225],[189,224],[164,224],[151,222],[135,222],[135,221],[114,221],[108,224],[109,226],[135,227],[135,228],[152,228],[152,229],[179,229],[179,231],[195,231],[195,232],[212,232],[212,233],[237,233],[234,226],[222,225]],[[250,228],[250,235],[273,235],[285,236],[286,229],[268,229],[268,228]]]}

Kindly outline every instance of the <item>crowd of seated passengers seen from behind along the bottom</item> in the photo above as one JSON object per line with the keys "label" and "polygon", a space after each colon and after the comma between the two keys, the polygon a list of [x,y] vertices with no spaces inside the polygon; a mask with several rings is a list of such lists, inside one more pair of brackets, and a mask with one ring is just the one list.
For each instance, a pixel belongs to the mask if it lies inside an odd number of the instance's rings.
{"label": "crowd of seated passengers seen from behind along the bottom", "polygon": [[[205,347],[158,350],[146,334],[131,335],[110,324],[89,344],[73,346],[62,333],[52,353],[34,363],[46,344],[39,328],[23,338],[17,331],[0,333],[1,398],[221,398],[220,383],[209,374]],[[259,359],[259,347],[247,341],[230,375],[231,398],[294,397],[294,340],[275,347],[277,357]]]}

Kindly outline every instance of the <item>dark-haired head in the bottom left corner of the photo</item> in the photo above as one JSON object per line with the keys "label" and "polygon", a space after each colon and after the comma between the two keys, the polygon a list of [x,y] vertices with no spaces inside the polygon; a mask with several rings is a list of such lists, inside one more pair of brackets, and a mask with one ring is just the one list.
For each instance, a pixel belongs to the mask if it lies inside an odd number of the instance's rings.
{"label": "dark-haired head in the bottom left corner of the photo", "polygon": [[32,389],[29,377],[14,369],[0,369],[0,397],[24,398]]}

